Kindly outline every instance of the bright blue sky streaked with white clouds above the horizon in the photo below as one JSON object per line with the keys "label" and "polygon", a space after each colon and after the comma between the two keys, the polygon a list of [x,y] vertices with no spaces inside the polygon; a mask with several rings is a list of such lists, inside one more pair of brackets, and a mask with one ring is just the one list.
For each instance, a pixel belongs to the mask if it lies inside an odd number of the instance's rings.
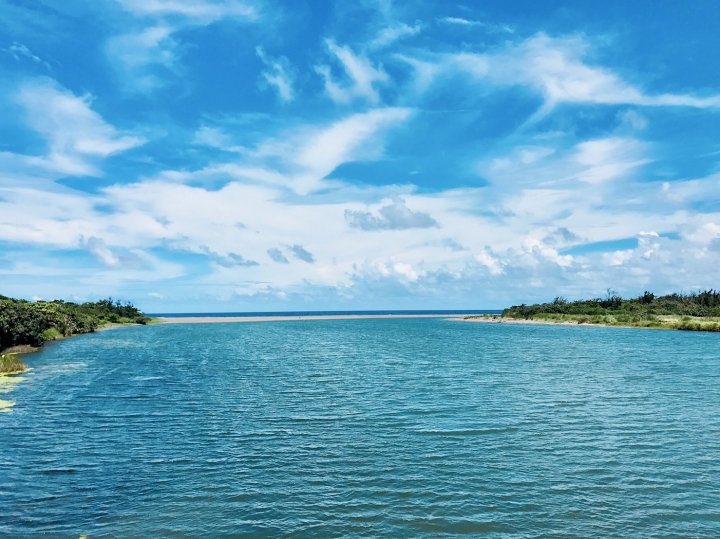
{"label": "bright blue sky streaked with white clouds above the horizon", "polygon": [[0,294],[718,287],[718,27],[714,0],[2,0]]}

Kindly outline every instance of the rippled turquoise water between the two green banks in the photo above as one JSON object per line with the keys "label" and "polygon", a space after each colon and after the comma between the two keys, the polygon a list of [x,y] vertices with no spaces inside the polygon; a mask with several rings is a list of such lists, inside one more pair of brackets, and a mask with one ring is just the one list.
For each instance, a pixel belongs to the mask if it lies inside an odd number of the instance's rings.
{"label": "rippled turquoise water between the two green banks", "polygon": [[442,319],[52,344],[0,395],[0,535],[718,537],[718,344]]}

